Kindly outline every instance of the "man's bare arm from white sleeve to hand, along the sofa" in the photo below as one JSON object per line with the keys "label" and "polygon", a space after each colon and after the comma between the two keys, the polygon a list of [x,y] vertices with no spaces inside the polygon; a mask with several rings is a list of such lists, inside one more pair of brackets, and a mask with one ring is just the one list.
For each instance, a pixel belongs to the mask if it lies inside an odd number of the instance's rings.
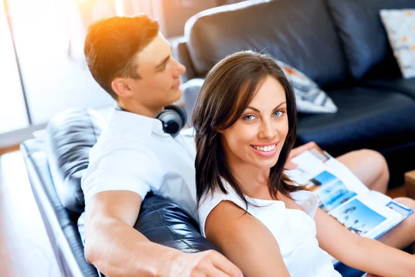
{"label": "man's bare arm from white sleeve to hand, along the sofa", "polygon": [[133,229],[142,199],[127,190],[94,195],[86,206],[85,257],[106,276],[242,276],[216,251],[183,253]]}

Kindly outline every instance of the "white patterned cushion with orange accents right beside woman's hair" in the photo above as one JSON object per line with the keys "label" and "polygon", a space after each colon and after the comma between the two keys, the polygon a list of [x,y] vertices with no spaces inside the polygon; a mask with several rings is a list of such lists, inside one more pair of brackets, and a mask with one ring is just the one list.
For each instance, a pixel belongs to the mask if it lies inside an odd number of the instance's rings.
{"label": "white patterned cushion with orange accents right beside woman's hair", "polygon": [[295,92],[297,111],[308,114],[335,113],[338,107],[318,85],[303,73],[284,62],[277,61]]}

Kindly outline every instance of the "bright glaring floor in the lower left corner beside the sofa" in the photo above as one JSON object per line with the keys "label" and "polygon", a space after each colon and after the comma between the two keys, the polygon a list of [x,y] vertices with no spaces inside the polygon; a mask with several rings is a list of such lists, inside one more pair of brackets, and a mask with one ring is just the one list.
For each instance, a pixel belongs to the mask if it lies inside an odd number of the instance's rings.
{"label": "bright glaring floor in the lower left corner beside the sofa", "polygon": [[59,277],[21,152],[0,156],[0,277]]}

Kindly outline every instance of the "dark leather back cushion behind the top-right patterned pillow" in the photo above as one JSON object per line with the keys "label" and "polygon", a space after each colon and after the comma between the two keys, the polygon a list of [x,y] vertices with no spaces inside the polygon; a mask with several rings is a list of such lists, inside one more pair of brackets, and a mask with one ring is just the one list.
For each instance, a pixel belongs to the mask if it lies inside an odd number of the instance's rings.
{"label": "dark leather back cushion behind the top-right patterned pillow", "polygon": [[349,71],[355,80],[396,77],[398,64],[391,51],[381,9],[415,8],[415,0],[327,0],[338,29]]}

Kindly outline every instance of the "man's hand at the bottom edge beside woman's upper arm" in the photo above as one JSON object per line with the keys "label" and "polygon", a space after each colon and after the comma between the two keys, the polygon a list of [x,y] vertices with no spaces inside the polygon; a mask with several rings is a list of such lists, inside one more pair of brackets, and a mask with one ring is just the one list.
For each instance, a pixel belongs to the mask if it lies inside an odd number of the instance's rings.
{"label": "man's hand at the bottom edge beside woman's upper arm", "polygon": [[242,271],[221,253],[208,250],[199,253],[179,253],[166,260],[169,272],[161,276],[174,277],[243,277]]}

